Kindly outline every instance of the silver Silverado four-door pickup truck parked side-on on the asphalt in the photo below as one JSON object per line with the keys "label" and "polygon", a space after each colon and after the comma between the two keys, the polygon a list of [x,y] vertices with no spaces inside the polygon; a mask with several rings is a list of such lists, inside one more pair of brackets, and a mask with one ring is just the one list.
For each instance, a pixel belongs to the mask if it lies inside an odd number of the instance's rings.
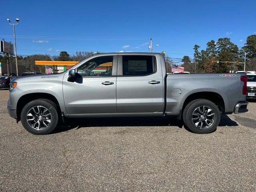
{"label": "silver Silverado four-door pickup truck parked side-on on the asphalt", "polygon": [[158,53],[94,54],[59,74],[16,78],[8,112],[32,134],[65,118],[177,116],[195,133],[246,112],[246,74],[168,74]]}

